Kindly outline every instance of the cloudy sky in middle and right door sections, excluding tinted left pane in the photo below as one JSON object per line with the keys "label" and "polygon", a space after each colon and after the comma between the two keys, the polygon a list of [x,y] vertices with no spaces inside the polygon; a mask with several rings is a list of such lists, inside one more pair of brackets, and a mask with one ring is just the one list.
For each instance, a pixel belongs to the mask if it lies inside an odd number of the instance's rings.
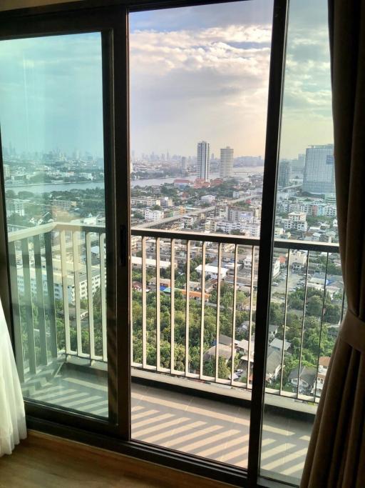
{"label": "cloudy sky in middle and right door sections, excluding tinted left pane", "polygon": [[[196,141],[207,139],[216,152],[230,144],[235,154],[264,154],[271,24],[258,4],[244,3],[245,15],[235,11],[238,2],[220,10],[220,19],[211,7],[201,7],[195,16],[194,9],[170,9],[131,17],[131,134],[137,152],[170,147],[194,154]],[[331,141],[324,3],[309,0],[304,7],[292,1],[282,126],[285,156]]]}

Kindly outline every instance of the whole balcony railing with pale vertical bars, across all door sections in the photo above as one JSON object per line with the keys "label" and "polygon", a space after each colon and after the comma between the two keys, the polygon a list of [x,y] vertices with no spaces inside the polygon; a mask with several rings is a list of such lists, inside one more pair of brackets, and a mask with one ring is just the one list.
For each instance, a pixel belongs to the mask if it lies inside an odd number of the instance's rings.
{"label": "whole balcony railing with pale vertical bars, across all door sections", "polygon": [[[91,225],[9,233],[21,381],[59,357],[108,361],[105,241],[105,229]],[[338,244],[274,241],[267,392],[319,398],[320,359],[345,307],[338,252]],[[133,369],[250,392],[258,258],[257,238],[133,228]]]}

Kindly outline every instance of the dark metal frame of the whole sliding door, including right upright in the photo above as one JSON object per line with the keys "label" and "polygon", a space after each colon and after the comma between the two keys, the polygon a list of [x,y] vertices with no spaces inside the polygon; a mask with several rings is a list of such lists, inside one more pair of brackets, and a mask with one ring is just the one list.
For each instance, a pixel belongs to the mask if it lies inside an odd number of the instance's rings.
{"label": "dark metal frame of the whole sliding door, including right upright", "polygon": [[[128,13],[149,9],[229,3],[242,0],[84,0],[72,4],[42,6],[1,14],[0,40],[31,36],[79,34],[101,31],[103,53],[103,125],[106,165],[107,303],[108,303],[108,394],[109,421],[67,412],[58,407],[26,401],[29,427],[113,449],[133,457],[175,469],[231,482],[241,486],[270,486],[259,477],[262,414],[264,408],[267,329],[269,318],[274,203],[284,82],[284,59],[289,0],[274,0],[272,47],[269,71],[267,134],[264,159],[259,271],[257,277],[257,327],[250,412],[248,469],[238,468],[191,454],[173,452],[130,439],[130,151]],[[120,161],[125,161],[125,164]],[[1,165],[1,189],[4,175]],[[127,196],[120,199],[120,195]],[[0,195],[0,271],[6,277],[0,288],[5,312],[13,327],[9,296],[9,264],[4,219],[4,191]],[[7,281],[6,281],[7,280]],[[124,297],[124,299],[117,299]],[[14,342],[13,342],[14,344]],[[278,486],[277,484],[275,486]]]}

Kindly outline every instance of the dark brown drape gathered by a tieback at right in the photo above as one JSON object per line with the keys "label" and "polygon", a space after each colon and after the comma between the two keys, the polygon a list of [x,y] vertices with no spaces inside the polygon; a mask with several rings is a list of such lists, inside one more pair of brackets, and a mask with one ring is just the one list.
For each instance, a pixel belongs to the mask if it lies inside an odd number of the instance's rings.
{"label": "dark brown drape gathered by a tieback at right", "polygon": [[302,488],[365,487],[365,0],[329,0],[334,161],[348,302]]}

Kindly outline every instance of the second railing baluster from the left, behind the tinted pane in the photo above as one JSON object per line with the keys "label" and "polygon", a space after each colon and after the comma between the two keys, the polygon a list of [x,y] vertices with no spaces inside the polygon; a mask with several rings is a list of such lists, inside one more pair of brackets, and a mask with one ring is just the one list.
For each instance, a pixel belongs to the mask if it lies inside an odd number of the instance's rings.
{"label": "second railing baluster from the left, behind the tinted pane", "polygon": [[28,335],[29,372],[36,373],[36,346],[34,342],[34,317],[31,300],[31,271],[29,267],[29,242],[28,238],[21,240],[21,257],[23,260],[24,279],[24,308],[26,311],[26,329]]}

